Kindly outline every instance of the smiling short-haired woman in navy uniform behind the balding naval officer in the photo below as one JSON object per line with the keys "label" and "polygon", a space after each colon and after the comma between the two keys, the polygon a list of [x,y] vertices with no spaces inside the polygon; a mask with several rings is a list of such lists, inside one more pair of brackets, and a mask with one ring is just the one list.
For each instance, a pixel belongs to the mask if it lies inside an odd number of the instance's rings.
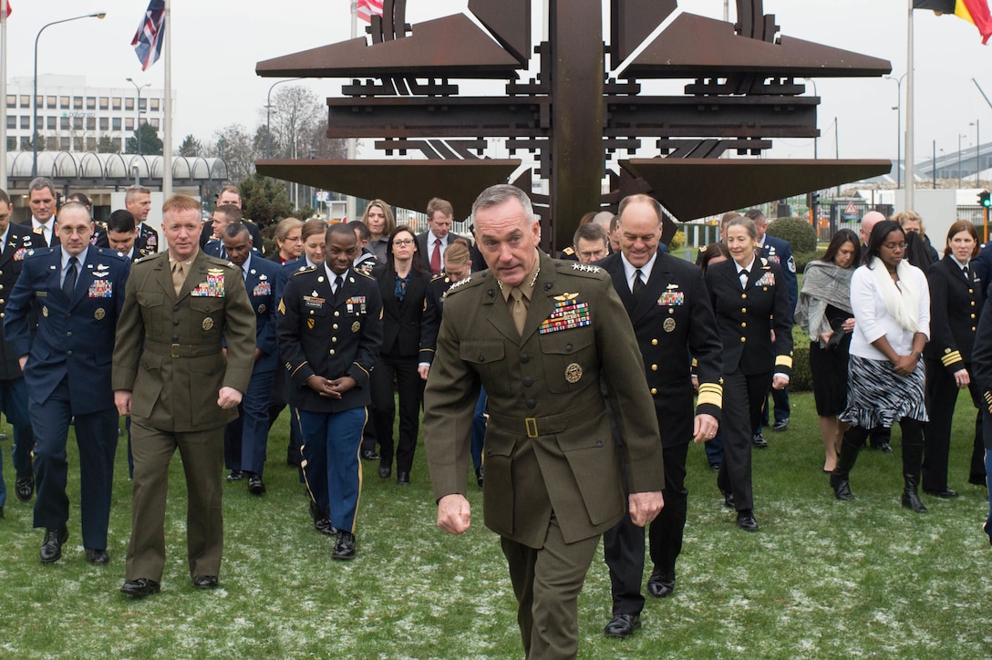
{"label": "smiling short-haired woman in navy uniform behind the balding naval officer", "polygon": [[723,343],[723,464],[716,484],[737,525],[757,531],[751,491],[751,435],[768,387],[789,384],[793,314],[782,268],[758,258],[754,221],[736,217],[725,234],[729,261],[706,271],[706,288]]}

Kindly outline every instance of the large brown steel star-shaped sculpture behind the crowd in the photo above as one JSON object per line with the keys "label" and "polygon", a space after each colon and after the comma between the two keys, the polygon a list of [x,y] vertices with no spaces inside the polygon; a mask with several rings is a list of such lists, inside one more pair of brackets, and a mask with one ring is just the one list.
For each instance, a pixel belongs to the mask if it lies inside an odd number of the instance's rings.
{"label": "large brown steel star-shaped sculpture behind the crowd", "polygon": [[[550,0],[548,41],[534,49],[538,73],[524,81],[530,0],[468,0],[478,23],[456,14],[413,26],[406,0],[385,0],[371,44],[353,39],[256,71],[352,78],[342,98],[327,99],[327,137],[374,138],[386,156],[424,158],[266,160],[257,169],[407,208],[447,198],[462,217],[484,187],[517,175],[512,183],[535,200],[549,248],[569,245],[586,211],[615,209],[632,193],[689,220],[890,171],[882,160],[720,158],[761,156],[774,138],[818,136],[819,98],[801,96],[803,78],[880,76],[892,69],[887,61],[779,35],[763,0],[736,0],[736,25],[676,15],[677,0],[609,2],[606,46],[602,0]],[[504,79],[504,93],[462,96],[451,82],[458,78]],[[680,96],[642,94],[641,81],[652,78],[691,82]],[[487,138],[505,138],[511,154],[529,152],[536,166],[484,158]],[[653,157],[633,157],[645,151]],[[547,194],[535,190],[538,179]],[[667,225],[668,239],[675,227]]]}

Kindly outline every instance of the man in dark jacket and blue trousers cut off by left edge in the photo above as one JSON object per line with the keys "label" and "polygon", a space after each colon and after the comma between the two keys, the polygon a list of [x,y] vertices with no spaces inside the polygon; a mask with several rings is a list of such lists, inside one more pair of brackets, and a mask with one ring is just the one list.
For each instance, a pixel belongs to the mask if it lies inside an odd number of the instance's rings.
{"label": "man in dark jacket and blue trousers cut off by left edge", "polygon": [[[21,266],[28,253],[25,241],[30,242],[31,232],[20,224],[12,224],[13,204],[7,193],[0,191],[0,292],[11,292],[21,275]],[[0,319],[5,315],[6,299],[0,297]],[[31,464],[31,451],[35,447],[35,432],[28,414],[28,390],[24,384],[24,371],[10,341],[0,332],[0,410],[14,427],[14,492],[22,502],[31,499],[35,492],[35,471]],[[7,500],[7,486],[3,480],[3,458],[0,455],[0,518]]]}

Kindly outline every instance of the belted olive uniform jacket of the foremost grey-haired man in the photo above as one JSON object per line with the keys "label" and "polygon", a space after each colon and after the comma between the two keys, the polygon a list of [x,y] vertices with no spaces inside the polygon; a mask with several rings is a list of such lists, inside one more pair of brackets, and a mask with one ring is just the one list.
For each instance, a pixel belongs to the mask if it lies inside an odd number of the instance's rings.
{"label": "belted olive uniform jacket of the foremost grey-haired man", "polygon": [[485,387],[485,524],[532,548],[544,546],[553,514],[566,543],[619,522],[628,508],[620,453],[631,492],[664,487],[641,352],[609,277],[540,255],[523,336],[488,271],[448,291],[424,415],[434,496],[464,494],[472,413]]}

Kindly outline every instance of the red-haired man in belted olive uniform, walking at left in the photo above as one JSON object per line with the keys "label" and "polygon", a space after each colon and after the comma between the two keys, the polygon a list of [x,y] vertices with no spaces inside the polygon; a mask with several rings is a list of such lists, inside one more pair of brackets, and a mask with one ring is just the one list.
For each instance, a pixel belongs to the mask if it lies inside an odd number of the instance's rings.
{"label": "red-haired man in belted olive uniform, walking at left", "polygon": [[223,550],[224,426],[237,416],[255,356],[255,314],[241,273],[199,249],[200,205],[162,207],[167,252],[135,262],[113,351],[114,402],[131,416],[131,544],[121,592],[161,590],[169,463],[186,472],[189,575],[215,589]]}

